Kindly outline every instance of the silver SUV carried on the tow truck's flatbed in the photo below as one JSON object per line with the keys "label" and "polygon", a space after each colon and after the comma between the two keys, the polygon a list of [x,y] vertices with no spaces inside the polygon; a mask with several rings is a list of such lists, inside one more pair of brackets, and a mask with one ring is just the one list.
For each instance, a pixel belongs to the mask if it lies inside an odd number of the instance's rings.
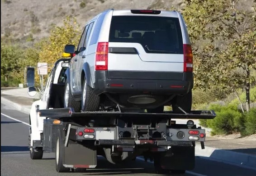
{"label": "silver SUV carried on the tow truck's flatbed", "polygon": [[[85,26],[66,71],[64,106],[76,112],[147,109],[190,112],[193,55],[176,11],[114,10]],[[184,111],[183,111],[184,110]]]}

